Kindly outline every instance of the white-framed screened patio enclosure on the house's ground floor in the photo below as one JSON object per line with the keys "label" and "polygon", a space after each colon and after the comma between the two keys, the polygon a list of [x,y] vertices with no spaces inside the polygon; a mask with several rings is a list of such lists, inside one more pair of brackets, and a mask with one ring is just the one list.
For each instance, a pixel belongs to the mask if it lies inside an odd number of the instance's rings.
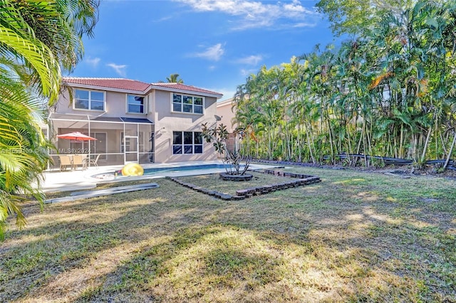
{"label": "white-framed screened patio enclosure on the house's ground floor", "polygon": [[[149,119],[52,113],[49,121],[49,139],[56,145],[56,150],[51,151],[54,163],[50,164],[50,169],[59,167],[59,154],[87,154],[90,159],[96,159],[100,154],[98,166],[154,162],[154,124]],[[96,140],[56,137],[68,132],[81,132]]]}

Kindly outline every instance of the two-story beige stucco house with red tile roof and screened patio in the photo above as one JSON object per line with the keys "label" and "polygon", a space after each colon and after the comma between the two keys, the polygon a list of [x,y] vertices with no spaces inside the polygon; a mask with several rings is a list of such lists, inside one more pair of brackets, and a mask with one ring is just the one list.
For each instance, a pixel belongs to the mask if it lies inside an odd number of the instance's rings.
{"label": "two-story beige stucco house with red tile roof and screened patio", "polygon": [[[218,92],[110,78],[63,78],[63,85],[49,115],[49,137],[58,154],[90,154],[92,159],[100,154],[98,165],[217,158],[202,138],[201,124],[216,122]],[[68,132],[96,140],[56,137]]]}

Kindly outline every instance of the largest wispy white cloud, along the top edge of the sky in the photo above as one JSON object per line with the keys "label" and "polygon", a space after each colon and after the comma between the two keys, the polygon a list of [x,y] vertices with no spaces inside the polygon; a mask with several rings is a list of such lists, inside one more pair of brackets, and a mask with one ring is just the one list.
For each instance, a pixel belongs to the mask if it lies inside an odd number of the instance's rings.
{"label": "largest wispy white cloud, along the top edge of the sky", "polygon": [[[236,16],[235,30],[247,28],[284,28],[314,26],[319,14],[307,9],[300,0],[291,2],[248,0],[175,0],[191,6],[195,11],[219,11]],[[296,26],[299,24],[299,26]]]}

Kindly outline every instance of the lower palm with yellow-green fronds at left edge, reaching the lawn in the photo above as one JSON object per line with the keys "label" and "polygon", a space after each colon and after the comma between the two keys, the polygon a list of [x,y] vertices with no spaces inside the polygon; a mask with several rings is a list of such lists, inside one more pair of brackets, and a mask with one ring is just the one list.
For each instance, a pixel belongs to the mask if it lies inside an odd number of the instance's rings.
{"label": "lower palm with yellow-green fronds at left edge, reaching the lawn", "polygon": [[33,112],[40,110],[40,100],[33,99],[24,83],[13,73],[0,68],[0,239],[6,218],[16,213],[16,225],[26,223],[20,203],[24,194],[42,202],[43,194],[32,186],[49,160],[48,144],[43,139]]}

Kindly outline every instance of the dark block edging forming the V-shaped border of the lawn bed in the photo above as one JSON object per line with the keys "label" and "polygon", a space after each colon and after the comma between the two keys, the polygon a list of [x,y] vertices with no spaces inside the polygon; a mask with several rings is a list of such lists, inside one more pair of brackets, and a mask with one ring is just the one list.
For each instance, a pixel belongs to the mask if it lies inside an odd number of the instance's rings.
{"label": "dark block edging forming the V-shaped border of the lawn bed", "polygon": [[[261,172],[261,171],[259,171],[259,172]],[[274,191],[281,191],[286,188],[304,186],[304,185],[308,185],[308,184],[314,184],[314,183],[321,182],[320,177],[305,175],[305,174],[274,171],[271,169],[264,169],[264,171],[262,173],[263,174],[274,174],[274,176],[294,178],[296,180],[286,181],[286,182],[281,182],[281,183],[276,183],[276,184],[269,184],[269,185],[264,185],[264,186],[256,186],[256,187],[239,189],[236,191],[236,196],[232,196],[227,193],[221,193],[219,191],[212,191],[210,189],[203,188],[201,186],[197,186],[195,184],[190,184],[190,183],[181,181],[177,177],[166,177],[166,179],[170,179],[171,181],[175,181],[177,184],[180,184],[187,188],[193,189],[194,191],[198,191],[199,193],[204,193],[209,196],[214,196],[215,198],[219,198],[224,201],[239,201],[239,200],[244,200],[245,198],[250,198],[252,196],[259,196],[259,195],[264,195],[266,193],[271,193]]]}

